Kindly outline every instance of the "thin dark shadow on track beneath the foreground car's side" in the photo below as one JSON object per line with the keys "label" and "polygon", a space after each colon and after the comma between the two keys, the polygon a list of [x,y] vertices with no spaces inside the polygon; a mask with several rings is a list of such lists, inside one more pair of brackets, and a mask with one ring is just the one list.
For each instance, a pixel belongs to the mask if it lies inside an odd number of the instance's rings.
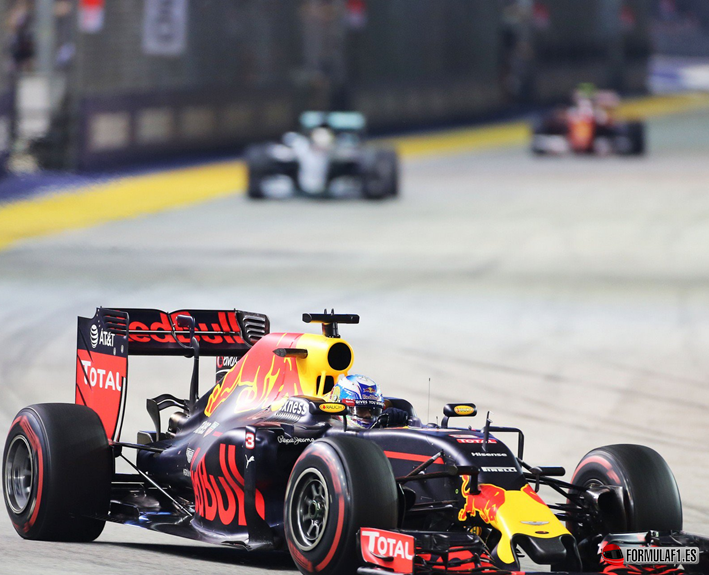
{"label": "thin dark shadow on track beneath the foreground car's side", "polygon": [[286,551],[244,551],[219,546],[201,547],[191,545],[165,545],[160,543],[117,543],[108,541],[95,541],[92,545],[120,547],[134,551],[160,553],[176,558],[183,557],[198,561],[210,561],[212,563],[241,565],[244,567],[264,569],[266,571],[298,571],[295,563],[293,563],[293,559],[291,559],[291,556]]}

